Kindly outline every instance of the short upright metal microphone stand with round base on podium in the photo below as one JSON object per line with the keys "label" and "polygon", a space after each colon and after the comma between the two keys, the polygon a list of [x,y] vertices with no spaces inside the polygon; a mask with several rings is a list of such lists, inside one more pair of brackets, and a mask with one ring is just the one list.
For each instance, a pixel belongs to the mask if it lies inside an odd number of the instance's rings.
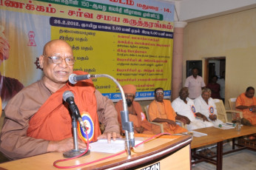
{"label": "short upright metal microphone stand with round base on podium", "polygon": [[[74,147],[75,149],[71,149],[70,151],[64,152],[63,156],[70,158],[70,157],[75,157],[78,156],[79,154],[82,154],[86,151],[86,149],[78,149],[78,133],[77,133],[77,127],[78,127],[78,123],[75,119],[75,116],[72,115],[72,129],[73,129],[73,139],[74,139]],[[90,154],[90,150],[87,151],[86,154],[87,155]],[[83,155],[83,156],[84,156]]]}

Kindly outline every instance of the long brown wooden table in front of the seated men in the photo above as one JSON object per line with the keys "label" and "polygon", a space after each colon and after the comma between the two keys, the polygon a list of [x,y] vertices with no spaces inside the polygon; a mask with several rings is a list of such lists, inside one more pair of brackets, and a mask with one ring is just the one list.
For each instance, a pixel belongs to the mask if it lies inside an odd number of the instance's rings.
{"label": "long brown wooden table in front of the seated men", "polygon": [[[216,165],[216,169],[221,170],[223,164],[223,141],[234,139],[236,137],[242,137],[246,135],[253,135],[256,133],[255,126],[242,126],[240,131],[235,129],[218,129],[215,127],[208,127],[203,129],[196,129],[196,132],[202,132],[207,134],[202,137],[193,137],[191,143],[191,149],[194,149],[192,152],[192,157],[204,160],[209,163]],[[217,159],[214,160],[212,157],[203,157],[195,153],[195,149],[207,146],[213,143],[217,143]],[[234,148],[233,148],[234,149]]]}

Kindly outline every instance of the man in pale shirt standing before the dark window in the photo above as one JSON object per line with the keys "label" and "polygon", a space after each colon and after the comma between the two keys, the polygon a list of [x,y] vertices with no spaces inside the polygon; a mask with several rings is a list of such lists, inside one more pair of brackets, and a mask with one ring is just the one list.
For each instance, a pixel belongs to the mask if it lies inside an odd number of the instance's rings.
{"label": "man in pale shirt standing before the dark window", "polygon": [[203,78],[198,75],[198,68],[192,69],[192,75],[186,78],[184,86],[189,88],[189,98],[195,99],[201,95],[202,89],[206,86]]}

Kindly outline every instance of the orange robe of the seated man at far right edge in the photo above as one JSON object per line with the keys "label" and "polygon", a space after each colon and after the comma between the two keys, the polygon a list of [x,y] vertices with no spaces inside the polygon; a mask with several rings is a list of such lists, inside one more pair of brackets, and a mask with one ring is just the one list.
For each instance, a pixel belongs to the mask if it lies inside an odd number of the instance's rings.
{"label": "orange robe of the seated man at far right edge", "polygon": [[[247,98],[245,93],[238,96],[235,106],[256,106],[256,98]],[[256,126],[256,112],[252,112],[252,109],[237,109],[243,112],[243,118]]]}

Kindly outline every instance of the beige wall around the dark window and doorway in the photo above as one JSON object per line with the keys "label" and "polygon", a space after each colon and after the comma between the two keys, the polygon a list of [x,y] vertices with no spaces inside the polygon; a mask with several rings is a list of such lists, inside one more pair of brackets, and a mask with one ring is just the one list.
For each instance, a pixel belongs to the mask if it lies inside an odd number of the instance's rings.
{"label": "beige wall around the dark window and doorway", "polygon": [[204,58],[218,56],[226,56],[226,101],[245,92],[247,86],[256,88],[256,8],[187,24],[183,84],[186,60],[203,60],[204,66]]}

